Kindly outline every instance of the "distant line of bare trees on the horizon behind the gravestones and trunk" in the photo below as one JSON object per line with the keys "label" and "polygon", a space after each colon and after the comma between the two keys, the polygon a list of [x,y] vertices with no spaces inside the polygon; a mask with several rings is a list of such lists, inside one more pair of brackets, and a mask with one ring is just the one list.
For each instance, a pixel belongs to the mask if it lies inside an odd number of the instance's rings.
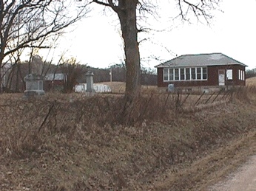
{"label": "distant line of bare trees on the horizon behind the gravestones and trunk", "polygon": [[[93,72],[94,83],[109,82],[110,72],[112,72],[112,81],[126,81],[126,70],[122,64],[116,64],[107,69],[99,69],[79,64],[76,62],[75,58],[62,59],[57,64],[52,64],[51,62],[43,61],[40,56],[34,55],[31,60],[24,62],[16,61],[15,63],[6,64],[4,70],[1,71],[1,76],[4,76],[1,81],[1,87],[2,90],[7,93],[24,92],[26,88],[24,77],[27,74],[40,74],[43,78],[45,78],[47,74],[64,74],[65,80],[63,82],[62,91],[71,92],[75,85],[86,83],[85,74],[88,71]],[[141,69],[141,84],[157,85],[157,75],[154,70],[146,68]],[[52,88],[54,90],[54,82]]]}

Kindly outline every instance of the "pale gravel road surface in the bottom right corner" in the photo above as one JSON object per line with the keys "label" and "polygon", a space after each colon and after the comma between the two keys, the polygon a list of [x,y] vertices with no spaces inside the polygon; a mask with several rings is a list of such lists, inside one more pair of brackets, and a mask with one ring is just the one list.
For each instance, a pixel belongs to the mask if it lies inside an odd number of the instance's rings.
{"label": "pale gravel road surface in the bottom right corner", "polygon": [[256,190],[256,156],[251,156],[238,171],[232,173],[226,181],[209,187],[209,191],[254,191]]}

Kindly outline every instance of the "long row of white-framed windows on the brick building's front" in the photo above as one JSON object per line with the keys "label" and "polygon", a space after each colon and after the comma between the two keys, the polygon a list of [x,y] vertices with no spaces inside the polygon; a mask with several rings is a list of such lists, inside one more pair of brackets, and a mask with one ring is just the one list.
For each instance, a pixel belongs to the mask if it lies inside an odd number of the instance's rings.
{"label": "long row of white-framed windows on the brick building's front", "polygon": [[207,80],[207,68],[164,69],[164,81]]}

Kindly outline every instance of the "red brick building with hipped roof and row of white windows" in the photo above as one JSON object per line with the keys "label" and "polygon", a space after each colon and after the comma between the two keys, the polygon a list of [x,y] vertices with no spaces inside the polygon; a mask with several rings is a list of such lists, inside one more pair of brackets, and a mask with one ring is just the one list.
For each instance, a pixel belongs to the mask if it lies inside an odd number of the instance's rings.
{"label": "red brick building with hipped roof and row of white windows", "polygon": [[158,87],[173,84],[175,88],[229,88],[246,86],[246,65],[222,53],[181,55],[155,66]]}

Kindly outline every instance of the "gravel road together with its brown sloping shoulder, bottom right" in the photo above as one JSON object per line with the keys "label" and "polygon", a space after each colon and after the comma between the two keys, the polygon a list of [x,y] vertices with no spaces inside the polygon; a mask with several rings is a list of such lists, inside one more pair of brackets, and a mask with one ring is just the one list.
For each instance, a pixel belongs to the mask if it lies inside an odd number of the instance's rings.
{"label": "gravel road together with its brown sloping shoulder, bottom right", "polygon": [[158,180],[152,190],[256,191],[256,131]]}

